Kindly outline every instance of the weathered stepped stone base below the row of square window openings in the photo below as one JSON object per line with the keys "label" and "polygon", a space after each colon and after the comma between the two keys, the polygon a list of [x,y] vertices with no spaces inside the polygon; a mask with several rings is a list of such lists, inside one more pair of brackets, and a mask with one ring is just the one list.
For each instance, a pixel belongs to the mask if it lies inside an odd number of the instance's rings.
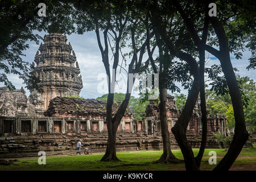
{"label": "weathered stepped stone base below the row of square window openings", "polygon": [[[192,147],[200,147],[199,134],[188,132]],[[92,152],[105,152],[108,133],[68,133],[68,134],[35,134],[0,137],[0,158],[18,158],[24,156],[38,156],[38,152],[46,151],[47,155],[75,154],[76,144],[81,140],[84,147],[92,148]],[[179,148],[170,134],[171,147]],[[145,132],[117,133],[117,151],[162,150],[160,133],[147,135]],[[219,148],[214,135],[208,137],[207,148]]]}

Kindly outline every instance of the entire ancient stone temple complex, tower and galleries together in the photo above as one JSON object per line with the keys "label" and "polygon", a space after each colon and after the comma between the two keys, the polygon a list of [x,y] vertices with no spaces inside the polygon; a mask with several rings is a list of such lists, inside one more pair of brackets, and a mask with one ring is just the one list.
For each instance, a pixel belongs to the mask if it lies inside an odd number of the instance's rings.
{"label": "entire ancient stone temple complex, tower and galleries together", "polygon": [[[10,91],[0,88],[0,158],[74,154],[81,140],[93,152],[104,152],[108,139],[106,127],[106,102],[81,99],[82,78],[71,43],[61,34],[44,36],[36,52],[32,72],[39,79],[43,92],[30,90],[29,97],[23,88]],[[72,54],[71,54],[72,53]],[[172,148],[177,148],[171,127],[175,125],[180,110],[174,97],[168,96],[167,118]],[[113,105],[113,114],[118,105]],[[196,105],[187,137],[192,147],[201,142],[201,115]],[[225,115],[208,115],[207,147],[220,147],[213,133],[226,135]],[[137,121],[130,109],[125,111],[117,131],[117,151],[161,150],[159,106],[150,102],[146,117]]]}

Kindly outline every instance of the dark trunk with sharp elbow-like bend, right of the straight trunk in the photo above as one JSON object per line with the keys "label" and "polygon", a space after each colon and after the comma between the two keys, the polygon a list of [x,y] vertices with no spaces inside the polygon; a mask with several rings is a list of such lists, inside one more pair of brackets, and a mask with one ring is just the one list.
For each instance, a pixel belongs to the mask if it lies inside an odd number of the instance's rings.
{"label": "dark trunk with sharp elbow-like bend, right of the straight trunk", "polygon": [[168,47],[169,51],[172,53],[173,56],[176,56],[179,59],[184,60],[189,64],[191,74],[194,77],[193,84],[192,84],[191,90],[189,90],[189,94],[188,94],[184,109],[179,119],[177,119],[175,126],[172,127],[172,133],[174,134],[175,139],[177,140],[177,143],[179,144],[181,152],[184,156],[186,169],[188,171],[198,171],[199,168],[197,167],[195,156],[192,151],[192,147],[189,144],[186,137],[186,130],[187,130],[189,120],[193,113],[193,108],[196,105],[196,100],[199,94],[199,89],[200,89],[199,88],[200,87],[199,68],[196,60],[193,59],[191,55],[189,55],[188,53],[182,52],[180,50],[177,50],[174,44],[172,44],[171,40],[167,36],[166,29],[162,28],[160,24],[161,20],[159,19],[159,16],[157,16],[157,14],[154,12],[151,14],[151,17],[152,17],[151,18],[152,23],[156,28],[158,28],[159,34],[162,37],[163,41],[166,43],[166,46]]}

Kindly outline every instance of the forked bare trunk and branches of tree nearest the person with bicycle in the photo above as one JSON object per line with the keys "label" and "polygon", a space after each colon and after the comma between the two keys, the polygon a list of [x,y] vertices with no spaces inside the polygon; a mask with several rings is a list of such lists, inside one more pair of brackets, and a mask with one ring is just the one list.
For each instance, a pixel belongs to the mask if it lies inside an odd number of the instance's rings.
{"label": "forked bare trunk and branches of tree nearest the person with bicycle", "polygon": [[[127,16],[128,17],[128,16]],[[144,54],[144,49],[146,47],[146,42],[144,42],[141,46],[141,48],[137,49],[135,44],[135,30],[131,28],[131,40],[133,44],[134,54],[133,58],[131,59],[131,63],[129,64],[129,70],[128,70],[128,79],[127,79],[127,92],[125,95],[125,100],[123,100],[122,104],[118,107],[117,112],[115,113],[114,117],[112,117],[112,106],[113,106],[113,100],[114,100],[114,85],[115,85],[115,75],[116,70],[118,66],[119,61],[119,42],[122,37],[122,31],[123,28],[125,28],[125,25],[127,23],[128,18],[125,18],[125,21],[123,23],[119,22],[119,35],[117,36],[116,32],[112,29],[114,35],[115,35],[115,53],[114,53],[114,63],[113,63],[113,73],[112,73],[112,81],[110,80],[110,70],[109,70],[109,57],[108,57],[108,30],[111,25],[111,23],[108,23],[108,26],[105,28],[104,31],[104,43],[105,43],[105,50],[103,49],[101,42],[100,42],[100,34],[99,34],[99,28],[98,28],[98,22],[96,23],[96,35],[98,40],[98,46],[100,47],[101,55],[102,55],[102,61],[104,63],[104,67],[106,70],[106,74],[108,75],[108,86],[109,86],[109,94],[108,94],[108,100],[107,100],[107,106],[106,106],[106,123],[108,128],[108,146],[106,148],[106,153],[102,157],[101,161],[116,161],[118,160],[116,156],[116,146],[115,146],[115,139],[116,139],[116,133],[117,128],[119,126],[119,123],[122,120],[123,115],[125,114],[125,111],[127,109],[127,106],[129,104],[130,96],[131,96],[131,88],[133,88],[133,84],[135,81],[135,77],[130,78],[130,74],[138,73],[141,71],[141,65],[142,65],[142,59]],[[119,19],[121,20],[121,19]],[[153,49],[154,51],[154,49]],[[137,57],[137,53],[139,52],[139,58]],[[133,69],[135,65],[135,69]],[[133,79],[133,80],[130,80]]]}

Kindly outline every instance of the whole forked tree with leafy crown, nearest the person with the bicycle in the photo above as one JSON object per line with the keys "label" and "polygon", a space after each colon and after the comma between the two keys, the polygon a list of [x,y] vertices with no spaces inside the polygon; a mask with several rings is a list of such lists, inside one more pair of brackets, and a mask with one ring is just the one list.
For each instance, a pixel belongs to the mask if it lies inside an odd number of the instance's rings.
{"label": "whole forked tree with leafy crown, nearest the person with the bicycle", "polygon": [[[143,38],[143,32],[140,32],[139,26],[142,22],[138,18],[134,17],[131,12],[127,9],[126,3],[123,2],[108,2],[108,1],[94,1],[94,2],[81,2],[81,19],[86,21],[85,27],[84,22],[77,22],[79,24],[79,32],[82,33],[88,30],[95,30],[97,36],[98,47],[100,48],[102,62],[105,67],[107,80],[108,80],[108,99],[106,104],[106,123],[108,127],[108,146],[106,148],[105,155],[102,157],[101,161],[115,161],[119,160],[116,155],[115,148],[115,137],[117,133],[117,128],[125,110],[129,104],[131,89],[135,81],[135,77],[130,77],[131,75],[136,75],[141,72],[143,55],[146,48],[146,42]],[[87,16],[84,16],[86,14]],[[88,18],[89,16],[89,18]],[[103,32],[104,47],[102,46],[100,31]],[[110,47],[113,53],[113,66],[112,66],[112,76],[110,74],[110,60],[109,60],[109,46],[110,39],[112,36],[114,41],[114,47]],[[121,53],[121,48],[127,46],[127,42],[130,40],[130,47],[132,49],[130,55],[131,60],[127,71],[127,91],[125,94],[125,100],[119,106],[117,113],[112,112],[112,105],[114,100],[114,88],[115,88],[115,76],[118,66],[120,66],[119,53]],[[126,59],[123,61],[126,62]],[[148,64],[148,61],[145,62]],[[121,64],[122,65],[122,64]],[[121,66],[121,69],[123,67]]]}

